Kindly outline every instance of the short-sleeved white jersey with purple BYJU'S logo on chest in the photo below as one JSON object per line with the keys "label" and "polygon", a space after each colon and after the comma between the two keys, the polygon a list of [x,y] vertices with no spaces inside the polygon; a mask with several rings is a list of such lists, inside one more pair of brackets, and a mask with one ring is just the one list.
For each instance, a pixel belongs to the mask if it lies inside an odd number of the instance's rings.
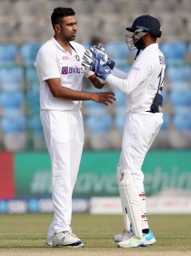
{"label": "short-sleeved white jersey with purple BYJU'S logo on chest", "polygon": [[[51,38],[39,49],[35,67],[37,67],[40,84],[40,108],[46,110],[78,110],[81,101],[70,101],[52,95],[47,79],[61,78],[61,85],[72,90],[82,89],[84,67],[81,65],[84,46],[75,42],[72,54],[61,47],[55,38]],[[91,73],[86,73],[90,76]]]}

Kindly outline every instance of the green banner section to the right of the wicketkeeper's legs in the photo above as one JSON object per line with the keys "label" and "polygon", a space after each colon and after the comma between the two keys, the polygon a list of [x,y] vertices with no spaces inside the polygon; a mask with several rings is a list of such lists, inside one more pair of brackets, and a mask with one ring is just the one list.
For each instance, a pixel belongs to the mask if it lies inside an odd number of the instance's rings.
{"label": "green banner section to the right of the wicketkeeper's legs", "polygon": [[191,189],[191,151],[150,151],[142,166],[147,195],[163,189]]}

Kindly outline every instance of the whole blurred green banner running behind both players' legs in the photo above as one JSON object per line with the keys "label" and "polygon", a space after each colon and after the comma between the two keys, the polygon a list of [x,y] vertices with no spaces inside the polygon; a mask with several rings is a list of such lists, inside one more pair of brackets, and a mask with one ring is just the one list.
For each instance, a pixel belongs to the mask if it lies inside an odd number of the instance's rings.
{"label": "whole blurred green banner running behind both players' legs", "polygon": [[[145,190],[153,195],[163,189],[191,189],[191,151],[150,151],[142,166]],[[119,195],[116,169],[119,151],[84,152],[74,196]],[[49,154],[15,154],[16,195],[51,195]]]}

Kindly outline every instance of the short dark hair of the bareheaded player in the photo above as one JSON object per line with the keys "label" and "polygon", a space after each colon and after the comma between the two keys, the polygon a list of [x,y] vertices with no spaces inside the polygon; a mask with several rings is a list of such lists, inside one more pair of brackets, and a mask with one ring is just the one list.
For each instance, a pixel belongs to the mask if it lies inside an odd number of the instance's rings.
{"label": "short dark hair of the bareheaded player", "polygon": [[61,18],[67,17],[67,16],[73,16],[73,15],[75,15],[75,12],[72,8],[64,8],[64,7],[55,8],[51,15],[52,26],[54,27],[55,24],[60,24]]}

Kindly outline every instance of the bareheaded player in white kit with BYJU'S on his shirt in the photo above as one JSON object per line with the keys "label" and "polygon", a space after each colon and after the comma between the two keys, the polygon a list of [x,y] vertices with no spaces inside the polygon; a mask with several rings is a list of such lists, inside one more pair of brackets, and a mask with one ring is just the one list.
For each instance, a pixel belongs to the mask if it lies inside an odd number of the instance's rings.
{"label": "bareheaded player in white kit with BYJU'S on his shirt", "polygon": [[40,117],[52,169],[54,220],[46,244],[54,247],[83,247],[72,233],[72,191],[84,144],[82,101],[107,105],[113,92],[83,92],[82,79],[90,78],[96,88],[103,84],[81,64],[84,46],[73,42],[77,32],[75,13],[56,8],[51,15],[55,36],[38,51],[35,66],[40,84]]}

